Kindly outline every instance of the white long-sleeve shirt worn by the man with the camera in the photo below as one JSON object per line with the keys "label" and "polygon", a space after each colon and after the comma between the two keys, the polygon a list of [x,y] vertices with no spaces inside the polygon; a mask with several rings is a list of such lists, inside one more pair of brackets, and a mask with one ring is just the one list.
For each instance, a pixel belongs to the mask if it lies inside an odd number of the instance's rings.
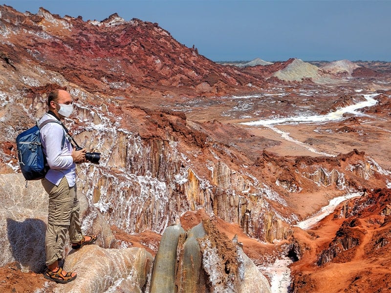
{"label": "white long-sleeve shirt worn by the man with the camera", "polygon": [[[39,124],[47,119],[56,120],[56,117],[45,113]],[[50,167],[45,178],[58,186],[65,176],[69,187],[73,187],[76,183],[76,164],[73,163],[71,156],[73,147],[65,136],[63,126],[58,123],[48,123],[41,128],[40,134],[43,154],[46,156],[47,164]],[[61,147],[64,136],[65,144]]]}

